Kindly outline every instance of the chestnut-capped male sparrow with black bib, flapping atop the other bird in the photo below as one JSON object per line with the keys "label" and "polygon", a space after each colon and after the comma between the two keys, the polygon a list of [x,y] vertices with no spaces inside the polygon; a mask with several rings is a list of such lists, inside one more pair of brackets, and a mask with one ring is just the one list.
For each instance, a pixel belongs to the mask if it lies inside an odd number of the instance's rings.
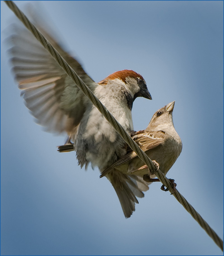
{"label": "chestnut-capped male sparrow with black bib, flapping atop the other bird", "polygon": [[[135,98],[152,99],[143,77],[126,69],[96,83],[45,30],[46,26],[34,24],[130,134],[134,130],[131,111]],[[45,131],[67,133],[66,144],[73,145],[81,168],[87,169],[91,163],[103,172],[126,154],[127,146],[120,135],[25,27],[15,24],[8,42],[12,44],[12,71],[26,107]],[[147,189],[147,183],[138,177],[129,178],[122,173],[109,173],[106,177],[127,208],[133,209],[135,196],[143,196],[142,189]]]}

